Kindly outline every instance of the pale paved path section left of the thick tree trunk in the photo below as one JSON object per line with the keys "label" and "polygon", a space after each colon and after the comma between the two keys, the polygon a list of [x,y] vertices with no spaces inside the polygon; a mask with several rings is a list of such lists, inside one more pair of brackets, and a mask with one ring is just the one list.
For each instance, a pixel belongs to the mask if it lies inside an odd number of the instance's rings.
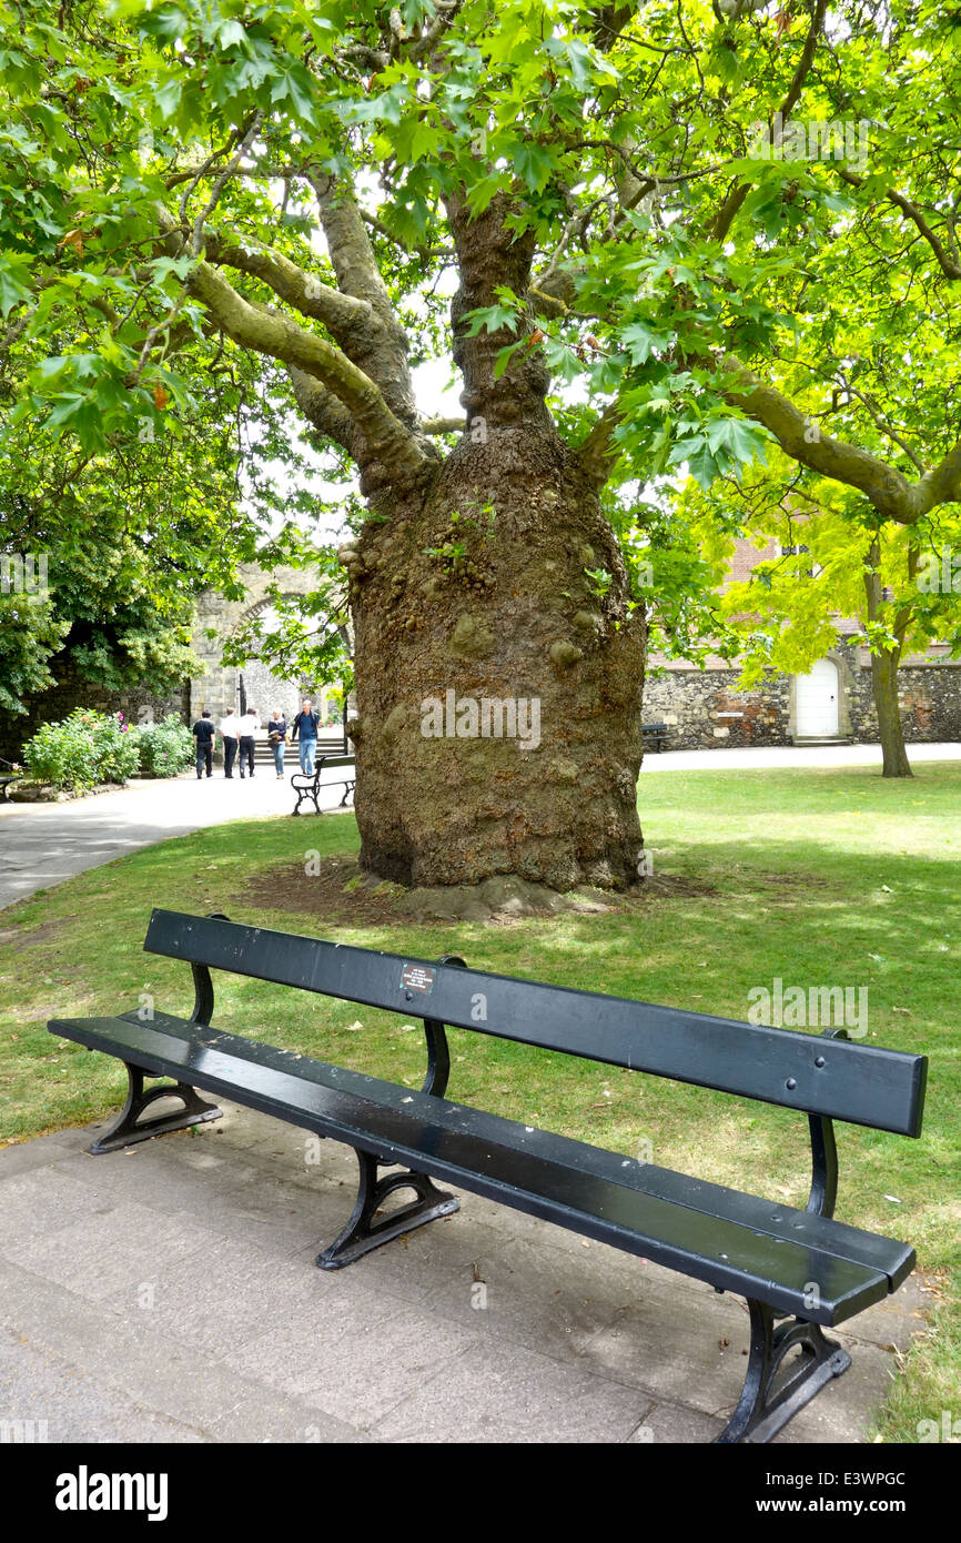
{"label": "pale paved path section left of the thick tree trunk", "polygon": [[[0,910],[139,847],[227,819],[262,819],[293,809],[288,778],[279,782],[268,767],[258,768],[253,779],[234,775],[231,781],[227,787],[227,778],[214,772],[210,781],[197,782],[190,772],[65,804],[0,804]],[[322,807],[336,809],[342,792],[332,785]]]}

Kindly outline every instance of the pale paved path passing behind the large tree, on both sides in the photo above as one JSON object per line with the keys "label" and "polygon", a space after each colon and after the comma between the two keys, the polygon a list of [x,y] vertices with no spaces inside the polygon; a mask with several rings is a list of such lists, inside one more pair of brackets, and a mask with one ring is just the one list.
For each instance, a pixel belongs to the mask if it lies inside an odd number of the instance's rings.
{"label": "pale paved path passing behind the large tree, on both sides", "polygon": [[[912,761],[961,761],[961,744],[910,745]],[[725,772],[767,767],[879,767],[878,745],[808,745],[757,750],[665,750],[646,756],[646,772]],[[643,775],[643,773],[642,773]],[[332,785],[321,799],[336,809],[342,787]],[[197,782],[193,772],[162,782],[131,782],[116,793],[97,793],[66,804],[0,804],[0,910],[49,889],[74,873],[113,863],[126,852],[170,836],[219,826],[227,819],[287,815],[293,805],[290,782],[278,782],[268,767],[253,781],[214,773]],[[310,818],[310,816],[307,816]]]}

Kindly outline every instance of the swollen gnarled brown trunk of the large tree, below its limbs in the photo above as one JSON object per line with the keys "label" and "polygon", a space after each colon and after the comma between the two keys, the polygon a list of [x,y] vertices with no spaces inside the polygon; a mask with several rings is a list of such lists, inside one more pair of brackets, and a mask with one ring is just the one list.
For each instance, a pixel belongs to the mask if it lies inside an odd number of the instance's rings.
{"label": "swollen gnarled brown trunk of the large tree, below its limbs", "polygon": [[[412,886],[636,881],[643,636],[549,418],[466,435],[420,503],[366,523],[349,571],[361,864]],[[537,704],[540,744],[424,734],[447,691]]]}

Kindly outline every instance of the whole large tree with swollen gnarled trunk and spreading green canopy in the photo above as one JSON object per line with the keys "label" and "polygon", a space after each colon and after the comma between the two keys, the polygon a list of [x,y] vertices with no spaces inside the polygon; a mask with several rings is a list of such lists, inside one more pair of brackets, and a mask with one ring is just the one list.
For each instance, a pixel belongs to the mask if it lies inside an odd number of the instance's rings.
{"label": "whole large tree with swollen gnarled trunk and spreading green canopy", "polygon": [[[646,606],[605,489],[671,464],[710,481],[773,437],[898,523],[958,498],[958,426],[932,406],[955,372],[958,29],[930,0],[0,14],[0,310],[14,353],[46,338],[59,361],[19,410],[130,435],[157,390],[176,401],[184,350],[239,346],[356,466],[367,867],[632,880]],[[844,120],[841,154],[807,131],[796,154],[794,117]],[[887,395],[839,435],[831,259],[848,289],[861,264],[889,339]],[[412,366],[444,355],[464,415],[438,423]],[[890,421],[909,380],[930,463]],[[447,691],[538,701],[538,748],[424,736]]]}

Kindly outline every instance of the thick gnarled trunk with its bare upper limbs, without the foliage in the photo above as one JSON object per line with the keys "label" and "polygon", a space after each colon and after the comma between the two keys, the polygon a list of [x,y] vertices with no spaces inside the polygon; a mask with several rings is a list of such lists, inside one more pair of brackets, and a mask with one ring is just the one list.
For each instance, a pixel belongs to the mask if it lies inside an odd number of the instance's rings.
{"label": "thick gnarled trunk with its bare upper limbs, without the foliage", "polygon": [[[497,875],[569,890],[623,889],[639,875],[643,613],[600,505],[611,471],[603,420],[569,446],[546,406],[549,376],[526,304],[535,241],[495,198],[478,216],[447,199],[460,289],[454,360],[466,409],[446,457],[421,423],[407,338],[362,214],[313,177],[338,287],[278,253],[207,238],[191,287],[230,335],[273,352],[298,404],[359,469],[369,518],[342,551],[355,634],[352,725],[361,864],[409,886],[472,886]],[[168,221],[168,247],[180,235]],[[230,264],[322,322],[292,326],[221,276]],[[470,335],[466,313],[518,298],[509,327]],[[497,360],[520,343],[503,372]],[[594,572],[594,579],[591,577]],[[430,704],[467,704],[463,725],[429,724]],[[470,731],[469,708],[498,704],[506,727]]]}

